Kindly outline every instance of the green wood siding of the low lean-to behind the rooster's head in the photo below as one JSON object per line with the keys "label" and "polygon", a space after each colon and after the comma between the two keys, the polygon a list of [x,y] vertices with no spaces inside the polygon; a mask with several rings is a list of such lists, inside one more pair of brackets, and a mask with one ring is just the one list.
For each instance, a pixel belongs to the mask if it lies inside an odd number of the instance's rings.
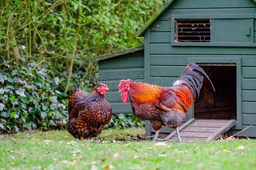
{"label": "green wood siding of the low lean-to behind the rooster's head", "polygon": [[108,85],[106,93],[113,114],[132,113],[130,100],[122,102],[117,85],[122,79],[144,81],[144,50],[99,61],[99,82]]}

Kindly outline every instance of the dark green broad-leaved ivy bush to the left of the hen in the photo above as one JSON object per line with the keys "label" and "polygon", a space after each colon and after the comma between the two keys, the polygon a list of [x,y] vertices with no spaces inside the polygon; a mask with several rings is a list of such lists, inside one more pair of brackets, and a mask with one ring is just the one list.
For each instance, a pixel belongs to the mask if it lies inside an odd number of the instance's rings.
{"label": "dark green broad-leaved ivy bush to the left of the hen", "polygon": [[60,78],[35,61],[27,66],[4,61],[0,68],[0,129],[17,132],[66,122],[68,96],[59,91]]}

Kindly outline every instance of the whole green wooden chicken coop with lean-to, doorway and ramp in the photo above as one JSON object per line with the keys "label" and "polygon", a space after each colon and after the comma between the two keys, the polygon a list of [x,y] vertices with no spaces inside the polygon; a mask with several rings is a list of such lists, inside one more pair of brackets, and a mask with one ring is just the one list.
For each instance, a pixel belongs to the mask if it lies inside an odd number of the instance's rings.
{"label": "whole green wooden chicken coop with lean-to, doorway and ramp", "polygon": [[[180,124],[183,141],[210,140],[224,132],[256,137],[256,0],[169,0],[137,36],[144,37],[143,45],[92,59],[99,64],[99,81],[110,87],[113,113],[132,113],[117,89],[121,79],[172,86],[195,62],[216,92],[205,79]],[[149,121],[145,126],[146,137],[154,134]],[[163,127],[160,132],[172,131]]]}

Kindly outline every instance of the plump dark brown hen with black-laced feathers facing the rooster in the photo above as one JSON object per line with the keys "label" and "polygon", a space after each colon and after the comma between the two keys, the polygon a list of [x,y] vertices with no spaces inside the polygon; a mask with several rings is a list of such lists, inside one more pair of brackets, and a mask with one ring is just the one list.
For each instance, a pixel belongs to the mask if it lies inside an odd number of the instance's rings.
{"label": "plump dark brown hen with black-laced feathers facing the rooster", "polygon": [[83,141],[101,133],[112,117],[112,108],[105,96],[107,85],[99,84],[89,94],[81,90],[79,85],[68,100],[66,127],[70,134]]}

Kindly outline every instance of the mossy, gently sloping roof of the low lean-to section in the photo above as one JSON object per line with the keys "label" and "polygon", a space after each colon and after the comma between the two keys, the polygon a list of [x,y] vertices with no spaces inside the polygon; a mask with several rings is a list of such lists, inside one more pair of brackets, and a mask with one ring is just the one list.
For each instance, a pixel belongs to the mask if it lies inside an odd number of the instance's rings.
{"label": "mossy, gently sloping roof of the low lean-to section", "polygon": [[100,61],[100,60],[105,60],[107,58],[112,58],[112,57],[116,57],[116,56],[119,56],[119,55],[124,55],[124,54],[132,53],[132,52],[135,52],[135,51],[140,51],[140,50],[143,50],[143,49],[144,49],[144,44],[141,44],[141,45],[138,45],[136,47],[124,48],[122,50],[113,51],[112,53],[92,57],[91,61],[96,62],[96,61]]}

